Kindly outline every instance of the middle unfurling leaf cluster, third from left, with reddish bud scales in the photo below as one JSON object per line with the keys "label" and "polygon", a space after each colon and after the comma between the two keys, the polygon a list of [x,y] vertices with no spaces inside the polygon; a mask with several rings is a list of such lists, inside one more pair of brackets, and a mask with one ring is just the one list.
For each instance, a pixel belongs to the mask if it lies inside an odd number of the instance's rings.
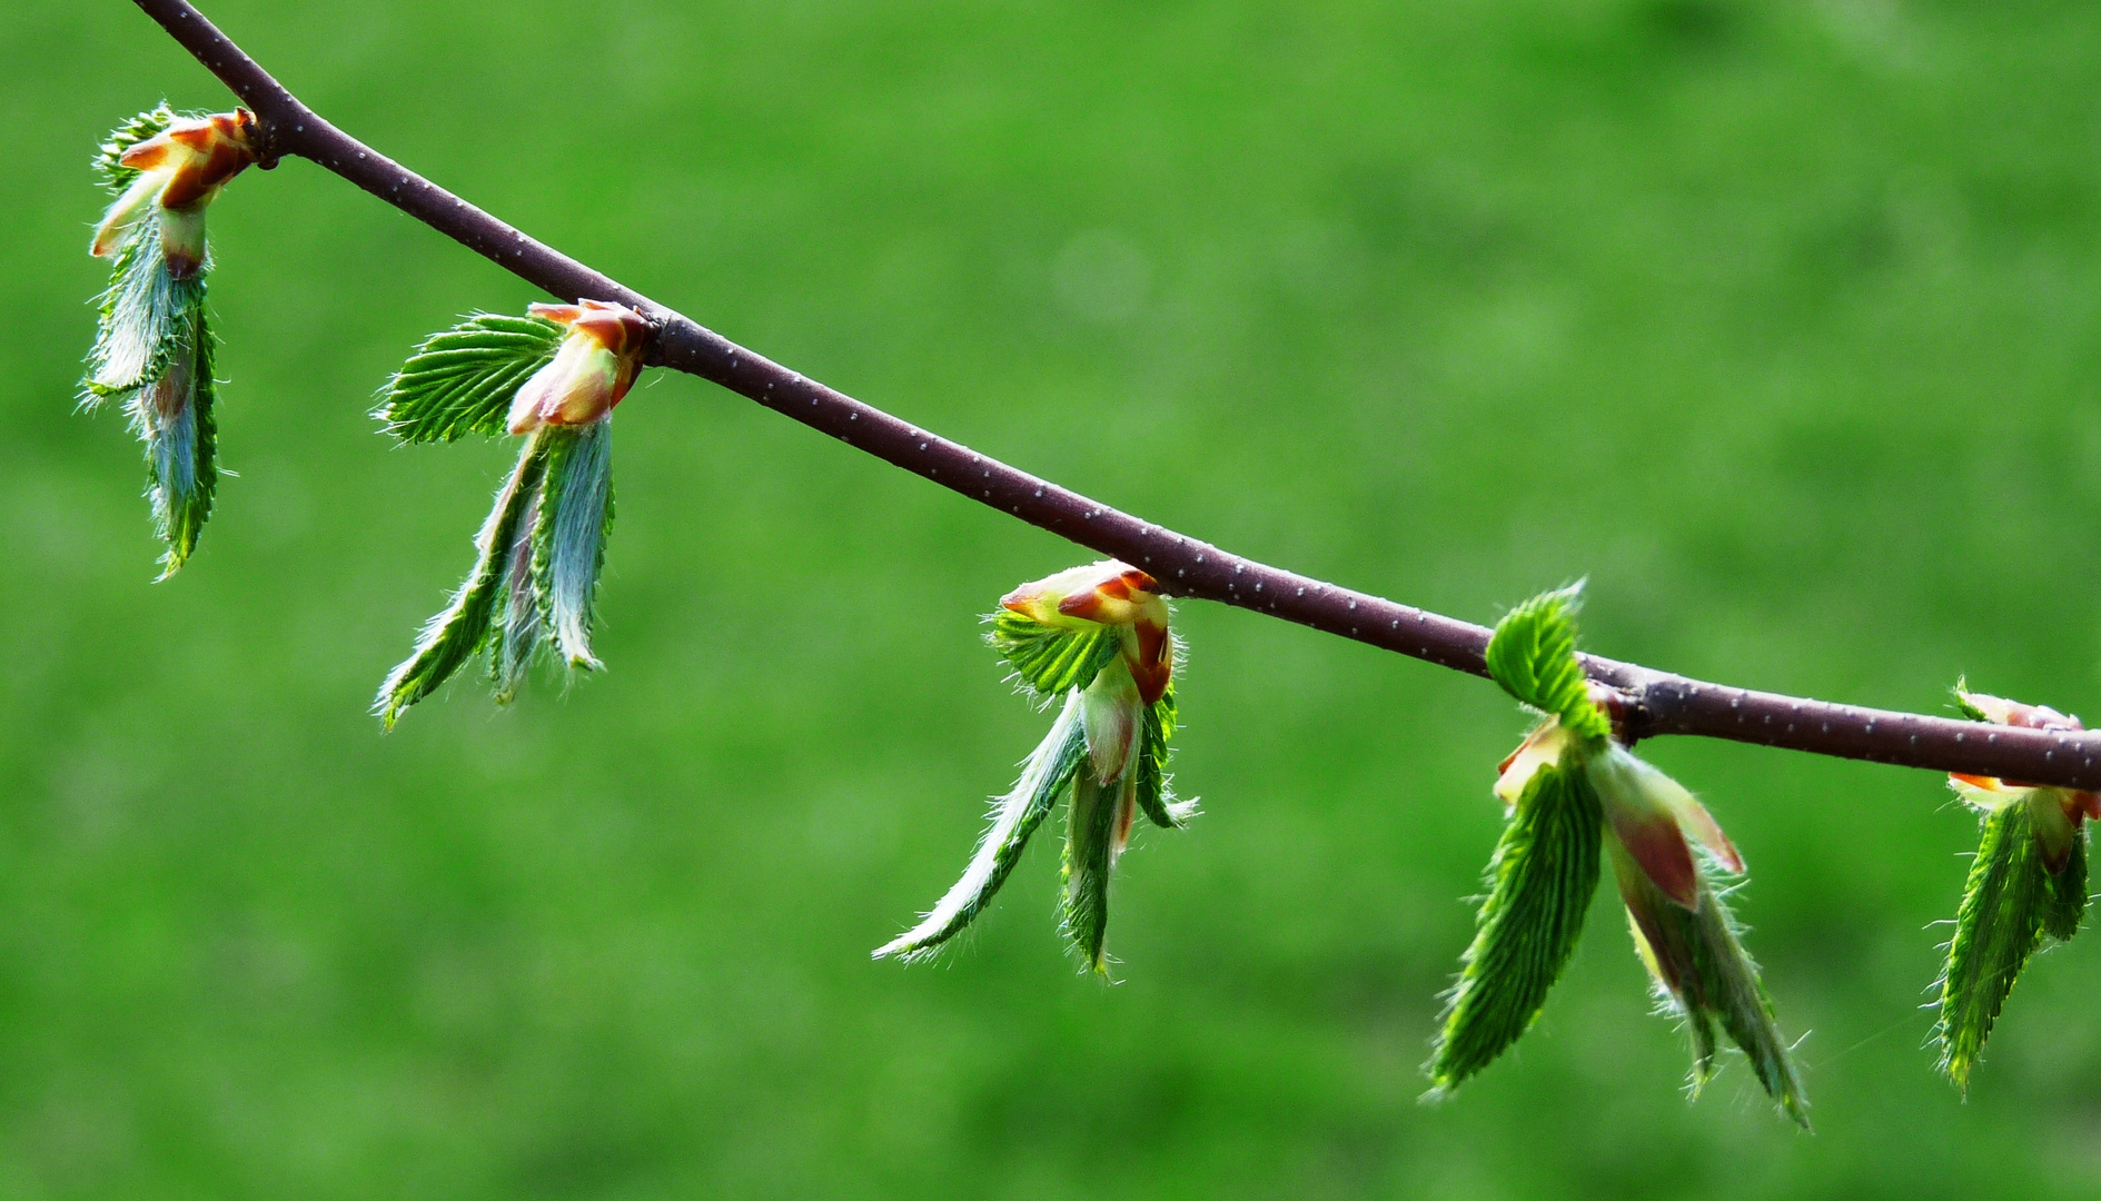
{"label": "middle unfurling leaf cluster, third from left, with reddish bud scales", "polygon": [[994,802],[992,829],[962,880],[920,924],[874,955],[916,962],[977,918],[1059,796],[1067,802],[1059,928],[1093,972],[1107,972],[1109,880],[1139,813],[1179,827],[1195,802],[1168,789],[1177,645],[1151,575],[1095,563],[1000,600],[992,642],[1036,695],[1065,697],[1021,781]]}

